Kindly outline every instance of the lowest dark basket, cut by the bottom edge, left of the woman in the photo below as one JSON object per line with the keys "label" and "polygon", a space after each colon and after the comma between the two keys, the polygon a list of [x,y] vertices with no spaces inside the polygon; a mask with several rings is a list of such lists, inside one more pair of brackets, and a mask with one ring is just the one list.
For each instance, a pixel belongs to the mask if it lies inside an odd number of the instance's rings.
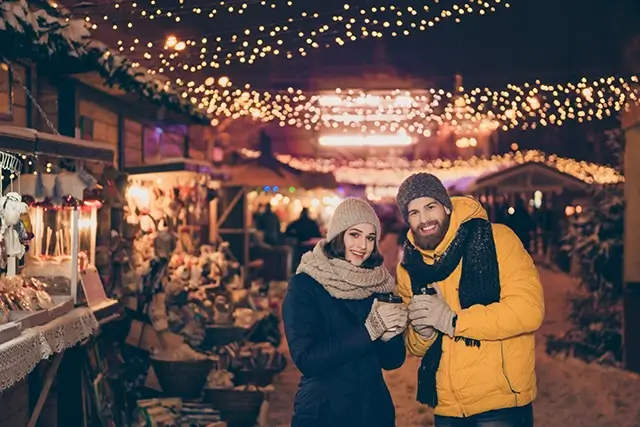
{"label": "lowest dark basket, cut by the bottom edge, left of the woman", "polygon": [[204,402],[220,411],[228,427],[253,427],[260,415],[264,393],[255,390],[205,389]]}

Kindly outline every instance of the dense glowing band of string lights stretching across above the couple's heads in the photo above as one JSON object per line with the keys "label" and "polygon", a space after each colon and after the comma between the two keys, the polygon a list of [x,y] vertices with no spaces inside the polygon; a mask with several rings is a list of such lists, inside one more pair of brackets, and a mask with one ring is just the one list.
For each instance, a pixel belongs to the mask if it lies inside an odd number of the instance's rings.
{"label": "dense glowing band of string lights stretching across above the couple's heads", "polygon": [[[184,82],[179,81],[179,85]],[[306,130],[357,130],[378,134],[399,130],[430,136],[447,132],[467,138],[497,129],[536,128],[615,116],[638,103],[638,76],[606,77],[589,82],[523,85],[505,89],[476,88],[455,94],[438,89],[362,92],[336,89],[331,94],[209,89],[187,84],[194,102],[214,117],[251,117],[281,127]],[[191,95],[187,95],[191,96]],[[200,96],[200,98],[198,98]],[[460,138],[459,138],[460,139]],[[465,141],[460,141],[464,144]]]}

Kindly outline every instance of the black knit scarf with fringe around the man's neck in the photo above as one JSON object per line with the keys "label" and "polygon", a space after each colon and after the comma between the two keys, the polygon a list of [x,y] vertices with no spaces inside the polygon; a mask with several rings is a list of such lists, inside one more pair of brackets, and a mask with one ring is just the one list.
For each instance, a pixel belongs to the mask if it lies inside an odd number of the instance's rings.
{"label": "black knit scarf with fringe around the man's neck", "polygon": [[[408,240],[404,244],[402,267],[409,273],[414,295],[435,294],[428,285],[442,282],[462,260],[462,276],[458,287],[463,309],[476,304],[489,305],[500,301],[500,274],[496,245],[491,224],[483,219],[463,223],[455,238],[440,258],[432,265],[426,264],[422,254]],[[422,358],[418,370],[418,402],[435,408],[438,405],[436,372],[442,357],[442,333]],[[480,347],[480,341],[464,337],[468,346]]]}

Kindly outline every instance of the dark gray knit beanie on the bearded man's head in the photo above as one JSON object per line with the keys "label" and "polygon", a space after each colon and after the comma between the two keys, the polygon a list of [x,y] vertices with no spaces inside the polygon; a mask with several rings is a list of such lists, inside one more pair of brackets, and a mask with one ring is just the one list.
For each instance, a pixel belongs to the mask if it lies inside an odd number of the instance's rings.
{"label": "dark gray knit beanie on the bearded man's head", "polygon": [[447,189],[444,188],[442,181],[430,173],[416,173],[400,184],[398,195],[396,196],[396,202],[402,213],[402,218],[404,218],[407,224],[409,224],[409,211],[407,207],[412,200],[419,199],[420,197],[431,197],[440,202],[445,208],[448,208],[449,211],[453,210],[451,198],[449,197]]}

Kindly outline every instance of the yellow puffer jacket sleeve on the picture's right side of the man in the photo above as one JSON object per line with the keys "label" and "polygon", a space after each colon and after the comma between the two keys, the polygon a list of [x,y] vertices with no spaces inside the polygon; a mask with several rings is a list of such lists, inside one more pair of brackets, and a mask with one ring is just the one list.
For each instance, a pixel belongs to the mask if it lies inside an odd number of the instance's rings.
{"label": "yellow puffer jacket sleeve on the picture's right side of the man", "polygon": [[544,296],[538,270],[510,228],[493,225],[500,268],[500,301],[458,312],[455,334],[497,341],[536,331],[544,318]]}

